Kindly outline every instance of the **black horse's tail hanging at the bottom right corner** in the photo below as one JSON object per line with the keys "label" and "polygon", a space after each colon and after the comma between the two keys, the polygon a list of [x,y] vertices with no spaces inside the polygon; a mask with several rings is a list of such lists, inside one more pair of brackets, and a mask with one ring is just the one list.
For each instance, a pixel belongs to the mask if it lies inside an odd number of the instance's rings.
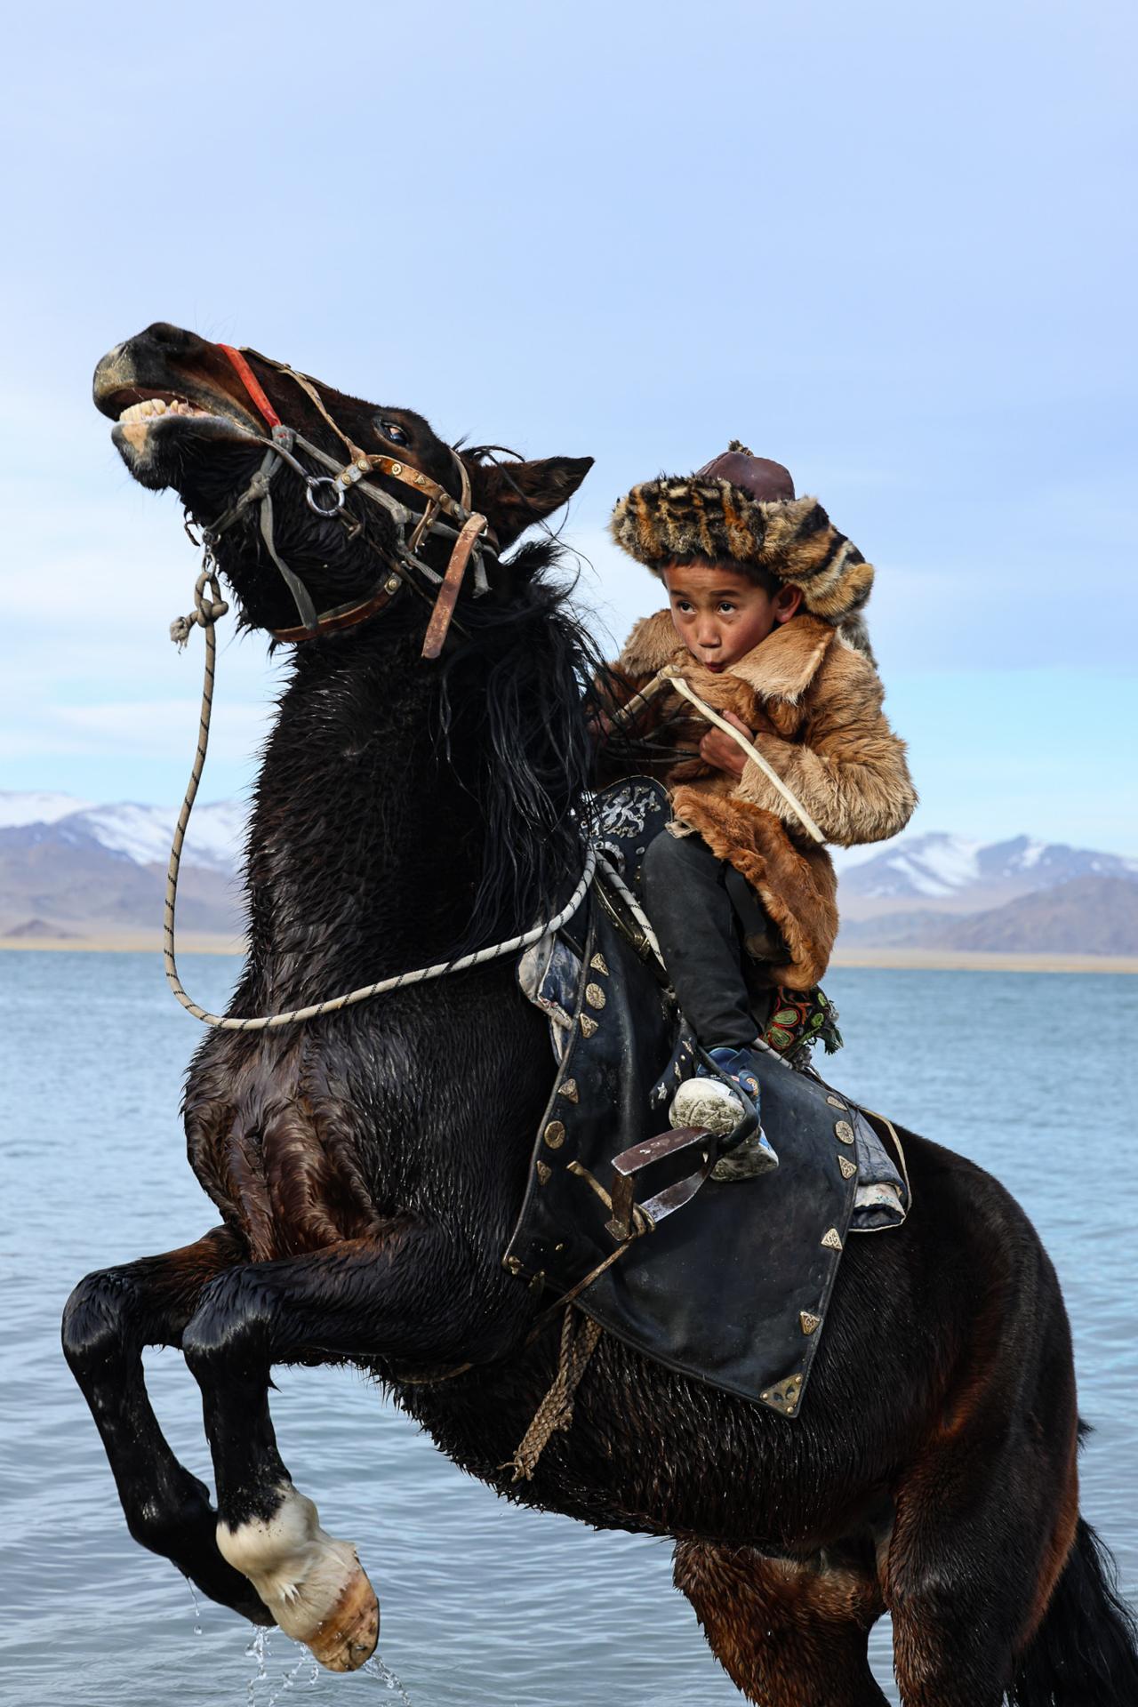
{"label": "black horse's tail hanging at the bottom right corner", "polygon": [[1019,1659],[1010,1707],[1135,1707],[1138,1618],[1118,1593],[1114,1560],[1078,1519],[1044,1620]]}

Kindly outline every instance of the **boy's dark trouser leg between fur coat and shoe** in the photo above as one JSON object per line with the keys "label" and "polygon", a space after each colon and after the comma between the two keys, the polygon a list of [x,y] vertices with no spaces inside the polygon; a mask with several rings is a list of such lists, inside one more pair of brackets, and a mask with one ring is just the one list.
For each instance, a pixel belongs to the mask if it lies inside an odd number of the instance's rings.
{"label": "boy's dark trouser leg between fur coat and shoe", "polygon": [[[684,1019],[705,1050],[746,1048],[758,1024],[729,883],[737,874],[701,836],[665,830],[643,862],[645,912],[660,942]],[[742,884],[742,879],[737,879]],[[744,896],[751,891],[742,884]],[[746,905],[746,900],[744,900]],[[754,896],[751,905],[761,912]]]}

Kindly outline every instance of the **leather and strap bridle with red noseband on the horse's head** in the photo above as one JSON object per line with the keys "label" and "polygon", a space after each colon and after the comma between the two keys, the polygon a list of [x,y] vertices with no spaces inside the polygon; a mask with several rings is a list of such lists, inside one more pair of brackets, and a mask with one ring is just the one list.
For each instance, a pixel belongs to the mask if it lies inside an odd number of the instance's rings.
{"label": "leather and strap bridle with red noseband on the horse's head", "polygon": [[[409,586],[432,606],[427,635],[423,638],[423,657],[438,657],[447,638],[447,632],[454,621],[454,608],[462,589],[466,570],[473,563],[474,597],[479,597],[483,592],[490,591],[485,558],[486,555],[495,558],[498,555],[498,541],[490,527],[490,522],[478,510],[471,509],[471,476],[462,457],[457,451],[450,451],[462,488],[462,497],[454,498],[445,486],[440,486],[438,481],[432,480],[432,476],[421,468],[415,468],[415,464],[408,463],[406,457],[362,451],[324,406],[324,399],[321,398],[317,386],[307,374],[299,374],[287,364],[273,362],[270,357],[259,355],[256,350],[235,350],[227,343],[220,343],[217,348],[234,367],[270,432],[268,437],[263,434],[249,434],[253,440],[266,444],[261,466],[241,497],[237,497],[224,510],[224,514],[217,517],[217,521],[201,527],[201,539],[208,556],[213,556],[213,550],[220,536],[232,527],[253,504],[258,504],[261,539],[264,541],[270,558],[280,570],[300,618],[297,626],[270,630],[275,640],[316,640],[319,635],[331,633],[340,628],[351,628],[355,623],[362,623],[365,618],[387,609],[403,587]],[[287,427],[282,422],[280,415],[264,394],[261,382],[246,360],[246,355],[254,355],[259,362],[264,362],[268,367],[273,367],[278,374],[285,374],[288,379],[295,381],[297,386],[300,386],[305,396],[316,405],[319,415],[345,446],[348,452],[346,463],[340,463],[336,457],[328,456],[319,449],[319,446],[312,444],[300,432],[297,432],[295,427]],[[331,473],[312,475],[299,461],[295,454],[297,449],[304,451],[305,456],[312,457],[322,468],[331,469]],[[297,572],[282,560],[273,538],[271,483],[273,476],[285,466],[304,481],[304,497],[309,509],[328,521],[341,521],[350,536],[358,534],[363,526],[357,517],[345,512],[345,497],[350,492],[360,492],[363,497],[370,498],[370,502],[384,509],[394,522],[394,546],[380,550],[372,545],[372,550],[375,550],[384,560],[384,574],[375,582],[372,591],[362,599],[348,604],[338,604],[326,611],[317,611],[312,603],[312,594],[305,587],[300,575],[297,575]],[[367,478],[375,473],[398,481],[416,497],[423,498],[423,509],[409,509],[398,497],[392,497],[391,492],[386,492],[374,480]],[[450,546],[450,560],[444,574],[438,574],[437,568],[432,568],[432,565],[425,563],[420,556],[423,543],[433,534],[454,541]],[[369,545],[370,543],[372,541],[369,541]],[[454,626],[461,628],[459,623],[454,623]]]}

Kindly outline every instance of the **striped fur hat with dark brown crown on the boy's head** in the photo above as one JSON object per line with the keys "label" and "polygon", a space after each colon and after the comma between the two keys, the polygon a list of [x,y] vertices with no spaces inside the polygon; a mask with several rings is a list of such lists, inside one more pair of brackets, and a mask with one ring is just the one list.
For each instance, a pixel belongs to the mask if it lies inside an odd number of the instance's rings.
{"label": "striped fur hat with dark brown crown on the boy's head", "polygon": [[609,529],[655,575],[686,558],[764,568],[800,587],[804,608],[872,661],[862,611],[874,565],[831,526],[817,498],[795,498],[793,490],[780,463],[752,456],[732,439],[727,452],[694,475],[662,475],[633,486],[616,504]]}

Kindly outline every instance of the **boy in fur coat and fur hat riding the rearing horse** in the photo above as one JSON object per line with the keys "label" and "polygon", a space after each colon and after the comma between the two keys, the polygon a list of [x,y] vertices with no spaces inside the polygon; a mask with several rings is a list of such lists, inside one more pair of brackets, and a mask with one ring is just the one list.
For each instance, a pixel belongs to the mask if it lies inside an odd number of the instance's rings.
{"label": "boy in fur coat and fur hat riding the rearing horse", "polygon": [[[826,842],[897,835],[916,794],[862,621],[874,567],[821,504],[795,498],[781,464],[735,440],[696,475],[633,486],[611,531],[669,596],[633,628],[616,664],[621,691],[631,698],[664,666],[682,666]],[[662,777],[674,813],[643,869],[660,953],[698,1041],[754,1098],[756,983],[819,983],[838,930],[834,869],[763,768],[686,702],[659,693],[633,734],[655,743],[635,768]],[[713,1089],[681,1086],[672,1123],[710,1125]],[[730,1104],[718,1106],[720,1128],[739,1118]],[[776,1164],[759,1137],[723,1157],[717,1178]]]}

